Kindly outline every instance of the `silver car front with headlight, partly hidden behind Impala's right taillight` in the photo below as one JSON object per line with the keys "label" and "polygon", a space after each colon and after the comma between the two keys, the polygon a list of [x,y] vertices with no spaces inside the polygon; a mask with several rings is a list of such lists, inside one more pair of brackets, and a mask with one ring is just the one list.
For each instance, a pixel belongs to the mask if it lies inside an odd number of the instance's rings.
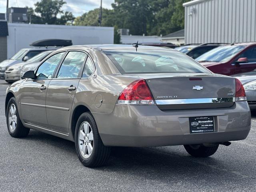
{"label": "silver car front with headlight, partly hidden behind Impala's right taillight", "polygon": [[233,76],[242,82],[250,109],[256,110],[256,70]]}

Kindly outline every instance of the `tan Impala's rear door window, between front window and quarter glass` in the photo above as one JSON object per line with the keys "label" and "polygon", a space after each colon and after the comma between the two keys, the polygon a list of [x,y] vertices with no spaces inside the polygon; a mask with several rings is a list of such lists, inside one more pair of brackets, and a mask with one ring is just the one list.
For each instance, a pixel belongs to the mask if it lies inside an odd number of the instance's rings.
{"label": "tan Impala's rear door window, between front window and quarter glass", "polygon": [[78,78],[86,56],[84,52],[69,52],[60,67],[57,78]]}

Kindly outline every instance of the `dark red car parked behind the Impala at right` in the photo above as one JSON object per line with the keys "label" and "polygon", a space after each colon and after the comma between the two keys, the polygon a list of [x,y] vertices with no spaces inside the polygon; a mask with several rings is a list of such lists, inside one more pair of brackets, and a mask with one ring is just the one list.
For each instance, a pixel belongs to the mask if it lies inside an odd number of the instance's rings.
{"label": "dark red car parked behind the Impala at right", "polygon": [[256,43],[219,46],[196,58],[214,73],[233,75],[256,68]]}

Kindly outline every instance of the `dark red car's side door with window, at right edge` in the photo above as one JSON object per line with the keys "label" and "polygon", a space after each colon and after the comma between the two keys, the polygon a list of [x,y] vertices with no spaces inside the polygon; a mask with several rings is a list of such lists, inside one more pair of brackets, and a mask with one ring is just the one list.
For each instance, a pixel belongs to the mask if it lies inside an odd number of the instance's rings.
{"label": "dark red car's side door with window, at right edge", "polygon": [[[236,64],[239,58],[247,58],[248,62]],[[248,48],[242,52],[235,60],[234,64],[236,66],[236,73],[249,72],[256,69],[256,46]]]}

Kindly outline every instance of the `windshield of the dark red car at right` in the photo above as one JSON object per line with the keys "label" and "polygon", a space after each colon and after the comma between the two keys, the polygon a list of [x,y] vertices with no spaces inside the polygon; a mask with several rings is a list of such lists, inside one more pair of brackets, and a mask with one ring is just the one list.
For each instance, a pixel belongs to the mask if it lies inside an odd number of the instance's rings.
{"label": "windshield of the dark red car at right", "polygon": [[227,62],[244,48],[245,46],[241,45],[220,46],[202,54],[196,60],[198,62]]}

